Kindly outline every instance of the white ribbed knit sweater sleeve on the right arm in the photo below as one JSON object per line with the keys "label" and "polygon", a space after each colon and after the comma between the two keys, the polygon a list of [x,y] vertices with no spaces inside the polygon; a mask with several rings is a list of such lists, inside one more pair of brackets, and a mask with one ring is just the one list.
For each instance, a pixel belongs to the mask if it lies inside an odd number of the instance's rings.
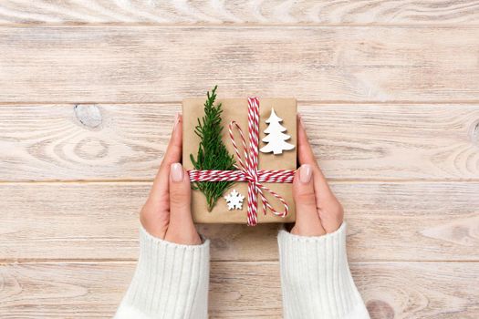
{"label": "white ribbed knit sweater sleeve on the right arm", "polygon": [[285,318],[370,318],[349,272],[346,223],[319,237],[281,231],[278,243]]}

